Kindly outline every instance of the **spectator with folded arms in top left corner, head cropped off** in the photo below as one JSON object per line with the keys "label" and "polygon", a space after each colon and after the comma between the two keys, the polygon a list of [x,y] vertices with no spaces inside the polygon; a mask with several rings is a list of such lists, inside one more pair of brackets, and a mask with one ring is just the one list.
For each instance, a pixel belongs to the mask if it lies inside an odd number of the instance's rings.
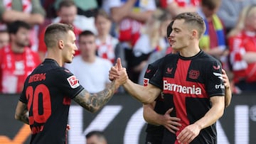
{"label": "spectator with folded arms in top left corner, head cropped off", "polygon": [[34,51],[38,50],[38,26],[45,20],[46,12],[39,0],[2,0],[0,1],[0,18],[3,23],[0,27],[6,27],[6,23],[25,21],[32,26],[30,31],[30,45]]}

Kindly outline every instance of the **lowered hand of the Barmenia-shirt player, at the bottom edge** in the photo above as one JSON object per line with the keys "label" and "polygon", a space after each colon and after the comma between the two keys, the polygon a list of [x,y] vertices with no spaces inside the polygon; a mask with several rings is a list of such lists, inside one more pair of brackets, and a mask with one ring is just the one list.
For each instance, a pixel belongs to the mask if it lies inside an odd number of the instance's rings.
{"label": "lowered hand of the Barmenia-shirt player, at the bottom edge", "polygon": [[186,126],[177,136],[178,143],[191,143],[200,131],[201,128],[196,123]]}

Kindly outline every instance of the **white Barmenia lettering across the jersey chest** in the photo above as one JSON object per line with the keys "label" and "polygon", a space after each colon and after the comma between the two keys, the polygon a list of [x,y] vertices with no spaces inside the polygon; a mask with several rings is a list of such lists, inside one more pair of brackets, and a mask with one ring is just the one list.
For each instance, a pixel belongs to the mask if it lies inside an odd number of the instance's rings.
{"label": "white Barmenia lettering across the jersey chest", "polygon": [[164,90],[169,90],[173,92],[179,92],[183,94],[202,94],[202,89],[193,85],[192,87],[185,87],[178,84],[170,84],[164,80]]}

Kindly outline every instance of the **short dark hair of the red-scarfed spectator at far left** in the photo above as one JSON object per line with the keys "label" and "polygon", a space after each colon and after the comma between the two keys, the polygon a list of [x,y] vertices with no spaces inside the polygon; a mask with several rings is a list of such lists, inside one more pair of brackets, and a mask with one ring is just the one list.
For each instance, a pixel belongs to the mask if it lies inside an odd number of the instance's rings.
{"label": "short dark hair of the red-scarfed spectator at far left", "polygon": [[7,29],[9,33],[16,34],[19,28],[26,28],[27,30],[30,30],[31,26],[25,21],[14,21],[7,24]]}

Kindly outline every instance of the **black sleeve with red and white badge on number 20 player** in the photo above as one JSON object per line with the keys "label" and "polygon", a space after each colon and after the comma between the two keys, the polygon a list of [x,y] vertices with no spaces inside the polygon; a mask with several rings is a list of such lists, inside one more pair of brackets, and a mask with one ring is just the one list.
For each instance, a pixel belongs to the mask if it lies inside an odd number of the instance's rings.
{"label": "black sleeve with red and white badge on number 20 player", "polygon": [[82,89],[84,89],[80,83],[77,77],[70,72],[66,68],[62,68],[58,74],[59,77],[59,84],[58,87],[60,87],[60,90],[65,94],[66,96],[70,97],[70,99],[73,99],[75,96],[77,96]]}

